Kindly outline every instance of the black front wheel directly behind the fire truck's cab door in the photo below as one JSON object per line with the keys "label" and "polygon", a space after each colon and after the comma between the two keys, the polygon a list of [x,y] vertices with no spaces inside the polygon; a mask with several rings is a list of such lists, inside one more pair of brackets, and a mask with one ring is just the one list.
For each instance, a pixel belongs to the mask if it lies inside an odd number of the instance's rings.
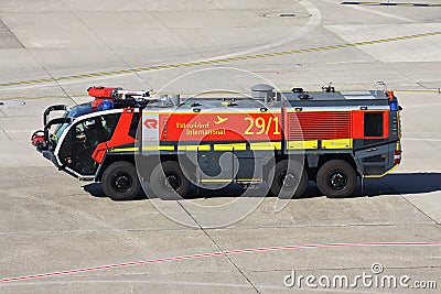
{"label": "black front wheel directly behind the fire truck's cab door", "polygon": [[131,200],[141,192],[137,170],[126,161],[114,162],[104,171],[101,187],[114,200]]}

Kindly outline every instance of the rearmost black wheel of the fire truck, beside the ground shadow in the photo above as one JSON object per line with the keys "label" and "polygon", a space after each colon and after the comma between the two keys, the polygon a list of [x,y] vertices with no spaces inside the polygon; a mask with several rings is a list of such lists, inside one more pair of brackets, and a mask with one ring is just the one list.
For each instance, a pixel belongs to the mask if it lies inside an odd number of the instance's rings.
{"label": "rearmost black wheel of the fire truck, beside the ground shadow", "polygon": [[327,197],[348,197],[355,190],[357,175],[348,162],[332,160],[320,167],[316,183],[320,192]]}

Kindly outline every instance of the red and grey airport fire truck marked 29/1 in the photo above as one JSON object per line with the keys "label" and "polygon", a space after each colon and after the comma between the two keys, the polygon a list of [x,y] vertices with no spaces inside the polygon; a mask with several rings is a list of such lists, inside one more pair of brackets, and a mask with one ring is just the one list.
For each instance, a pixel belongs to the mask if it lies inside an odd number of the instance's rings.
{"label": "red and grey airport fire truck marked 29/1", "polygon": [[[381,177],[401,160],[401,107],[384,83],[357,92],[260,84],[236,98],[88,94],[92,102],[49,107],[32,143],[60,170],[100,182],[112,199],[137,197],[142,183],[164,198],[228,183],[268,183],[279,197],[298,197],[309,181],[329,197],[347,197],[357,177]],[[64,115],[47,121],[52,111]]]}

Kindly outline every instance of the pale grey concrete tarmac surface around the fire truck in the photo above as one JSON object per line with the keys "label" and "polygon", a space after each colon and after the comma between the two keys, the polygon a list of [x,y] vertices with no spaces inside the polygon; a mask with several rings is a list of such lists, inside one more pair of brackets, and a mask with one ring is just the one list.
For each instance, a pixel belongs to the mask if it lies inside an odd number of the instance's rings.
{"label": "pale grey concrete tarmac surface around the fire truck", "polygon": [[[384,2],[0,0],[0,293],[439,292],[441,8]],[[377,80],[404,108],[402,164],[351,198],[311,183],[301,199],[234,209],[234,195],[112,202],[30,144],[47,106],[87,101],[93,85],[195,94]],[[288,287],[292,271],[408,275],[438,290]]]}

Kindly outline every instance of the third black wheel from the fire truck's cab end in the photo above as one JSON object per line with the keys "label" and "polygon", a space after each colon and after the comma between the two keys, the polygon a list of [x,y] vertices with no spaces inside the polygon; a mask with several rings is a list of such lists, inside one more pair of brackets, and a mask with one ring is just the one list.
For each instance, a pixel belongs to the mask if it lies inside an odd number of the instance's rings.
{"label": "third black wheel from the fire truck's cab end", "polygon": [[275,178],[270,186],[273,195],[281,199],[291,199],[298,198],[306,192],[308,174],[301,163],[283,160],[276,164],[273,171]]}

